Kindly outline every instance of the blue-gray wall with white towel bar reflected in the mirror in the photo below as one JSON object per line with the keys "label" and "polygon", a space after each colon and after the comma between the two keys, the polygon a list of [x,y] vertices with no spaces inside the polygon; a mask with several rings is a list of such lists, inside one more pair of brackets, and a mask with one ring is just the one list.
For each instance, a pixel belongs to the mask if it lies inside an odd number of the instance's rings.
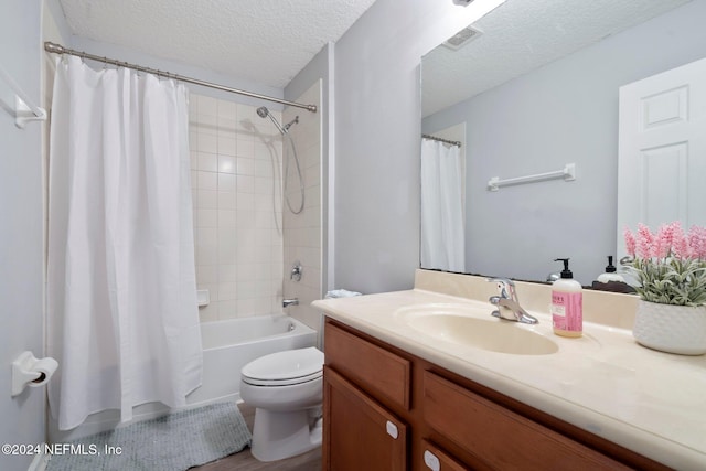
{"label": "blue-gray wall with white towel bar reflected in the mirror", "polygon": [[[706,1],[607,38],[425,119],[467,122],[467,269],[544,279],[570,257],[590,285],[616,254],[618,88],[706,56]],[[501,179],[577,165],[577,180],[485,190]]]}

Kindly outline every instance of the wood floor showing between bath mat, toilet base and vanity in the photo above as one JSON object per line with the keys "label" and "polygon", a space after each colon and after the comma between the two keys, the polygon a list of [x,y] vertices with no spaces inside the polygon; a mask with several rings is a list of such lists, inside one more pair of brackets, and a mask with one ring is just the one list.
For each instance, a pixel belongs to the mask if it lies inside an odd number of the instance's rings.
{"label": "wood floor showing between bath mat, toilet base and vanity", "polygon": [[[247,427],[253,431],[255,421],[255,408],[238,404],[238,408],[245,418]],[[321,470],[321,447],[307,453],[299,454],[286,460],[264,463],[257,461],[246,448],[239,453],[231,454],[211,463],[191,468],[190,471],[320,471]]]}

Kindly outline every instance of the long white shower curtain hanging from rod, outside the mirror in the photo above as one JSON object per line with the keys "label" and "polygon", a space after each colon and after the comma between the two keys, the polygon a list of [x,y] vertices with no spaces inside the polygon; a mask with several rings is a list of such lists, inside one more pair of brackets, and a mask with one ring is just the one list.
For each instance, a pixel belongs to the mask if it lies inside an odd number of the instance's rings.
{"label": "long white shower curtain hanging from rod, outside the mirror", "polygon": [[51,114],[47,346],[62,430],[201,384],[188,92],[57,61]]}

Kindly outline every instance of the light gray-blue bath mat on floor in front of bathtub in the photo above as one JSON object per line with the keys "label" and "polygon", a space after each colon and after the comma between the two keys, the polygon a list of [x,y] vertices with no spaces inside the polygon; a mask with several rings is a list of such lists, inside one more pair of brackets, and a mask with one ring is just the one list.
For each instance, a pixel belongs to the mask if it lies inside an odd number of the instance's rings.
{"label": "light gray-blue bath mat on floor in front of bathtub", "polygon": [[235,403],[212,404],[71,441],[46,471],[180,471],[242,451],[250,440]]}

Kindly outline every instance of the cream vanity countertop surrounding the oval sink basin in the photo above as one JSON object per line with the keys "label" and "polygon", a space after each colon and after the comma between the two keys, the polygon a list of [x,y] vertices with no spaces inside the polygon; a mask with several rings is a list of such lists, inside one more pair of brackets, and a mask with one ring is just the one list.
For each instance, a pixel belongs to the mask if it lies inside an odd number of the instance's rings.
{"label": "cream vanity countertop surrounding the oval sink basin", "polygon": [[[427,303],[493,310],[489,302],[421,289],[314,301],[330,318],[678,470],[706,469],[706,356],[640,346],[630,330],[585,322],[554,335],[548,314],[522,325],[556,342],[547,355],[513,355],[431,338],[394,313]],[[491,318],[494,319],[494,318]],[[496,320],[498,322],[506,322]]]}

